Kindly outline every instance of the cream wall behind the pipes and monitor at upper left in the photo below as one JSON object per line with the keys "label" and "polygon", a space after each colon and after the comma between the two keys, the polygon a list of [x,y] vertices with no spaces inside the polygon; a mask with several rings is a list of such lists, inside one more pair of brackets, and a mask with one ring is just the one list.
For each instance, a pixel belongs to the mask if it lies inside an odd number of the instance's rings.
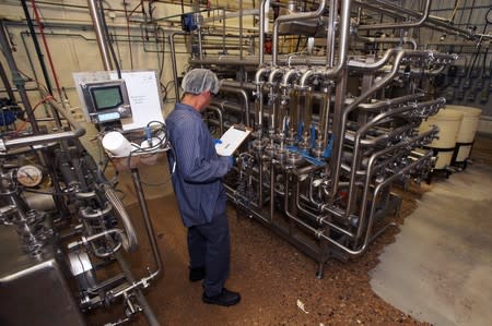
{"label": "cream wall behind the pipes and monitor at upper left", "polygon": [[[31,1],[26,1],[31,17],[34,19]],[[106,21],[109,26],[109,33],[114,35],[114,49],[117,53],[118,61],[122,70],[155,70],[160,75],[162,93],[164,99],[163,113],[166,116],[173,108],[175,92],[174,79],[172,71],[171,49],[167,36],[173,32],[179,32],[181,7],[169,3],[154,3],[152,15],[159,19],[160,28],[154,25],[145,24],[149,17],[149,1],[143,1],[147,16],[142,14],[140,1],[127,0],[127,12],[125,12],[124,1],[104,1]],[[189,3],[189,2],[188,2]],[[80,99],[75,90],[72,79],[73,72],[102,71],[103,62],[98,51],[93,24],[87,9],[87,2],[84,0],[71,1],[36,1],[36,7],[45,26],[45,35],[49,52],[54,62],[57,80],[60,85],[65,104],[75,113],[80,121],[83,116],[80,112]],[[191,12],[190,7],[185,5],[184,12]],[[1,1],[0,12],[8,20],[5,25],[9,32],[13,55],[17,68],[26,75],[36,79],[39,83],[45,84],[40,65],[36,57],[34,43],[28,34],[24,11],[20,1]],[[130,17],[127,24],[127,16]],[[210,11],[203,13],[204,17],[221,16],[221,11]],[[237,19],[227,20],[238,24]],[[250,26],[253,20],[245,19],[245,26]],[[216,20],[213,24],[216,29],[222,28],[222,20]],[[36,33],[39,29],[35,27]],[[220,39],[220,38],[218,38]],[[49,67],[48,56],[43,45],[40,35],[38,41],[43,49],[45,63],[52,81],[54,95],[60,99],[56,89],[55,79]],[[219,40],[218,40],[219,41]],[[176,37],[176,62],[179,75],[183,75],[187,69],[187,60],[189,51],[185,46],[185,37]],[[9,72],[3,56],[0,56],[3,68]],[[162,72],[161,72],[162,71]],[[28,88],[34,88],[35,83],[27,83]],[[3,85],[2,85],[3,88]],[[30,92],[30,98],[33,106],[37,104],[42,97],[38,92]],[[0,96],[7,96],[5,93]],[[67,98],[65,98],[67,96]],[[19,99],[19,98],[17,98]],[[47,109],[40,106],[36,110],[38,117],[47,114]],[[84,145],[92,154],[97,154],[95,144],[92,142],[97,134],[94,125],[83,123],[87,130],[87,135],[82,138]]]}

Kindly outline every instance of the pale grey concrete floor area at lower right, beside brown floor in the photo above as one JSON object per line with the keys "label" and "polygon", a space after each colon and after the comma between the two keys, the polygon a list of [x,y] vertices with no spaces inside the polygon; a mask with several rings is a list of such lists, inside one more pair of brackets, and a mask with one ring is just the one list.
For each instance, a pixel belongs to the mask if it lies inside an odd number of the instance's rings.
{"label": "pale grey concrete floor area at lower right, beside brown floor", "polygon": [[433,183],[371,271],[383,300],[434,325],[491,325],[492,166],[477,164]]}

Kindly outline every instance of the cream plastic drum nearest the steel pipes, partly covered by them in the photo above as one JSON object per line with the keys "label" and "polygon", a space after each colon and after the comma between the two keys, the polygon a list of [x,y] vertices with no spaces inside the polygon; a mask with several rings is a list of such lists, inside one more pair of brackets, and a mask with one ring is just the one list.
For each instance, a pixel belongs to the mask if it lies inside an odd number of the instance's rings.
{"label": "cream plastic drum nearest the steel pipes, partly covered by them", "polygon": [[420,124],[419,132],[421,133],[429,131],[433,125],[437,125],[440,129],[438,138],[429,145],[434,149],[434,156],[436,156],[435,169],[445,169],[450,165],[461,120],[462,112],[441,109],[437,114]]}

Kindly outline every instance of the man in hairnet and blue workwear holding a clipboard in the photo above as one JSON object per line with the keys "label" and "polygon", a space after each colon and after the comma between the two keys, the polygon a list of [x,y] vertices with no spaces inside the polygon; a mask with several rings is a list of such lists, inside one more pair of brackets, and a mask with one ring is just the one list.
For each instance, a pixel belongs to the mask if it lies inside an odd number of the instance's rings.
{"label": "man in hairnet and blue workwear holding a clipboard", "polygon": [[203,279],[204,303],[234,305],[239,293],[224,288],[230,268],[230,237],[222,177],[233,157],[221,157],[201,119],[219,92],[216,75],[207,69],[189,71],[181,82],[185,94],[166,119],[172,180],[179,214],[188,228],[189,279]]}

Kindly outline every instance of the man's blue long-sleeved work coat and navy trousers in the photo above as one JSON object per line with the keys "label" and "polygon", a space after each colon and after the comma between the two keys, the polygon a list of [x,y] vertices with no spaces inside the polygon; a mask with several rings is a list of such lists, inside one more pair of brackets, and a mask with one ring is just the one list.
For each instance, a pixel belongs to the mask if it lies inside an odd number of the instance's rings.
{"label": "man's blue long-sleeved work coat and navy trousers", "polygon": [[166,119],[169,165],[179,214],[188,228],[190,267],[204,267],[204,291],[220,294],[229,277],[230,237],[225,215],[226,193],[222,184],[232,165],[216,155],[215,146],[192,107],[177,104]]}

